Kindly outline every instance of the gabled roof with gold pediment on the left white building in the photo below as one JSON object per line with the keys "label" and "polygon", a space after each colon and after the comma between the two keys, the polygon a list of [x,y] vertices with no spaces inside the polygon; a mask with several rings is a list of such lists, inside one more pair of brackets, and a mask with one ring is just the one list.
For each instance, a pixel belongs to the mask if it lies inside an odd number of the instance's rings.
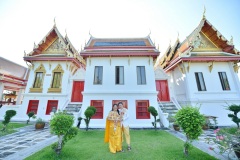
{"label": "gabled roof with gold pediment on the left white building", "polygon": [[85,68],[85,61],[70,42],[67,34],[63,37],[56,25],[38,43],[33,51],[24,55],[24,60],[32,61],[71,61],[76,66]]}

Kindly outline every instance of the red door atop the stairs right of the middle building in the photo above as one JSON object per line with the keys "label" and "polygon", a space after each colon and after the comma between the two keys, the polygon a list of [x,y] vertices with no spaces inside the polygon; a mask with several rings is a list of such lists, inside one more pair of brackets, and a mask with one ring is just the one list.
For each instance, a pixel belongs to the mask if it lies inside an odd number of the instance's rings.
{"label": "red door atop the stairs right of the middle building", "polygon": [[158,101],[170,101],[167,80],[156,80]]}

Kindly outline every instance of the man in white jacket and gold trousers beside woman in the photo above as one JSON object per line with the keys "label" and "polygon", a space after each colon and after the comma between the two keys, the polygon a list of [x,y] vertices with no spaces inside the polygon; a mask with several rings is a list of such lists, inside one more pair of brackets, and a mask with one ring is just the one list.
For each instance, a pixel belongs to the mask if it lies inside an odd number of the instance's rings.
{"label": "man in white jacket and gold trousers beside woman", "polygon": [[119,109],[120,115],[122,116],[122,129],[123,129],[123,133],[125,135],[126,143],[128,145],[128,150],[131,151],[128,110],[123,107],[122,102],[118,103],[118,109]]}

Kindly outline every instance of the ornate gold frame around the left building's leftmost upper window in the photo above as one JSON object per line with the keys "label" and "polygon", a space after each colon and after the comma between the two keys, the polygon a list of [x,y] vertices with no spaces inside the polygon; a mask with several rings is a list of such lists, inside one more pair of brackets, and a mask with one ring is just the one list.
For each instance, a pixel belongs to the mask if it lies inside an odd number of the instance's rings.
{"label": "ornate gold frame around the left building's leftmost upper window", "polygon": [[[42,93],[42,90],[43,90],[43,81],[44,81],[44,77],[45,77],[45,73],[46,73],[46,69],[44,67],[44,65],[41,63],[39,65],[39,67],[34,71],[35,72],[35,78],[34,78],[34,81],[33,81],[33,85],[32,85],[32,88],[29,88],[29,92],[35,92],[35,93]],[[34,88],[34,83],[36,81],[36,74],[37,73],[42,73],[42,80],[41,80],[41,85],[39,88]]]}

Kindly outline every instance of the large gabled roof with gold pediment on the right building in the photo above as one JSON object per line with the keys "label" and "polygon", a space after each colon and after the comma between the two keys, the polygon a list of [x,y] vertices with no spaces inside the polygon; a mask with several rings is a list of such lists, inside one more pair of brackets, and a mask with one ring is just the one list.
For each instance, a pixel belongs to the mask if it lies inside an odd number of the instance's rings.
{"label": "large gabled roof with gold pediment on the right building", "polygon": [[159,64],[169,71],[183,61],[239,62],[240,52],[205,17],[198,27],[182,42],[176,40],[161,57]]}

